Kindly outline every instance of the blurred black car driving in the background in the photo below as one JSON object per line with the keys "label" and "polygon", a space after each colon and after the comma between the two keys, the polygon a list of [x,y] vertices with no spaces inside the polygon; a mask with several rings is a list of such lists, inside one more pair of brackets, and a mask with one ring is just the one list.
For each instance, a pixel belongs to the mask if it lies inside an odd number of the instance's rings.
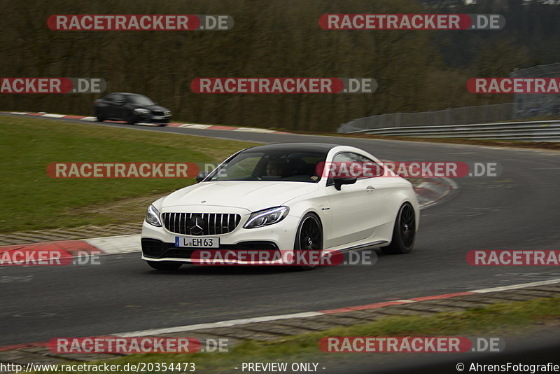
{"label": "blurred black car driving in the background", "polygon": [[125,120],[127,123],[160,123],[165,126],[171,119],[169,109],[149,97],[128,92],[114,92],[94,101],[97,120]]}

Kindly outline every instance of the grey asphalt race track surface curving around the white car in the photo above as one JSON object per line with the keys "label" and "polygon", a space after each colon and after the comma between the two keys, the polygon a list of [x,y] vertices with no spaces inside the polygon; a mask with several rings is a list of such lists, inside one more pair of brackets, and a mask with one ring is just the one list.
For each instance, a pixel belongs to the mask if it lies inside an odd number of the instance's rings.
{"label": "grey asphalt race track surface curving around the white car", "polygon": [[179,127],[144,130],[244,141],[330,142],[398,161],[498,162],[503,171],[498,177],[456,179],[459,189],[451,199],[422,211],[414,251],[380,254],[373,266],[294,272],[185,265],[177,272],[158,272],[134,253],[106,256],[99,266],[0,267],[0,345],[309,312],[559,277],[555,267],[475,268],[465,254],[472,249],[560,249],[560,153]]}

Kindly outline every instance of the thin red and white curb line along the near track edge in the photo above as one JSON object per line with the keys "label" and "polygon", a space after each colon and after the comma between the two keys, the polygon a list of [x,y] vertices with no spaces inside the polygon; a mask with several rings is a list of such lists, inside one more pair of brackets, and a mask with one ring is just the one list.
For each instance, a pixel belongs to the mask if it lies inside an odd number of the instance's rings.
{"label": "thin red and white curb line along the near track edge", "polygon": [[[162,335],[162,334],[169,334],[169,333],[183,333],[186,331],[196,331],[196,330],[201,330],[206,328],[231,327],[231,326],[240,326],[245,324],[253,324],[258,322],[279,321],[281,319],[308,318],[308,317],[317,317],[317,316],[328,315],[328,314],[353,312],[356,310],[371,310],[371,309],[378,309],[381,307],[387,307],[390,305],[410,304],[410,303],[417,303],[426,300],[442,300],[447,298],[454,298],[457,296],[476,295],[479,293],[490,293],[490,292],[498,292],[498,291],[509,291],[514,289],[524,289],[527,287],[545,286],[547,284],[556,284],[556,283],[560,283],[560,278],[549,279],[546,281],[539,281],[539,282],[512,284],[510,286],[493,287],[491,289],[476,289],[472,291],[464,291],[464,292],[456,292],[456,293],[443,293],[441,295],[423,296],[419,298],[393,300],[393,301],[386,301],[382,303],[373,303],[373,304],[366,304],[366,305],[355,305],[351,307],[342,307],[342,308],[330,309],[330,310],[319,310],[317,312],[302,312],[302,313],[278,314],[272,316],[253,317],[253,318],[244,318],[244,319],[230,319],[227,321],[211,322],[208,324],[193,324],[193,325],[174,326],[174,327],[167,327],[167,328],[153,328],[150,330],[139,330],[139,331],[130,331],[130,332],[123,332],[123,333],[111,333],[104,336],[119,337],[119,338],[139,338],[144,336]],[[49,342],[30,342],[30,343],[22,343],[17,345],[5,345],[0,347],[0,352],[10,351],[14,349],[24,349],[30,347],[47,347],[48,344]]]}

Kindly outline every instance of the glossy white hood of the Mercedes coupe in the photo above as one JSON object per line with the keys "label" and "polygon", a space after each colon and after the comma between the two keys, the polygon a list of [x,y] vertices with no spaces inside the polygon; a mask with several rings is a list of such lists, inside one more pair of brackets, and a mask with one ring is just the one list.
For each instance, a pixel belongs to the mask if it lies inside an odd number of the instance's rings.
{"label": "glossy white hood of the Mercedes coupe", "polygon": [[288,181],[202,182],[167,195],[162,201],[162,208],[217,205],[256,212],[283,205],[288,200],[316,191],[317,188],[317,183]]}

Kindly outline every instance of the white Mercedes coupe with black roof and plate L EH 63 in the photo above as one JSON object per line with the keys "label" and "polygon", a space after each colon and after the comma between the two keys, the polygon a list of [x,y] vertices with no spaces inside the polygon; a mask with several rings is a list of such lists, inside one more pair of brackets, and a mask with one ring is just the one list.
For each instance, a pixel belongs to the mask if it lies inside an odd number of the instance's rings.
{"label": "white Mercedes coupe with black roof and plate L EH 63", "polygon": [[152,268],[195,263],[201,249],[406,254],[414,247],[419,205],[412,184],[359,148],[255,146],[197,182],[148,207],[141,247]]}

